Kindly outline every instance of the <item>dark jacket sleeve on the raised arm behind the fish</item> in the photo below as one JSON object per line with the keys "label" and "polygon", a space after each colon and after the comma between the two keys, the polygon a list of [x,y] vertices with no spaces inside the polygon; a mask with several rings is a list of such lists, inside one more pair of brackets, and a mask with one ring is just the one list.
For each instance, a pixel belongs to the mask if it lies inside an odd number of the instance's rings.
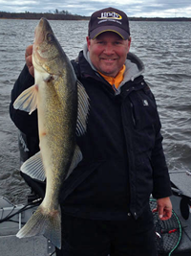
{"label": "dark jacket sleeve on the raised arm behind the fish", "polygon": [[17,128],[19,128],[26,135],[37,136],[37,110],[33,111],[31,115],[28,112],[14,109],[13,103],[16,98],[27,88],[32,86],[34,79],[29,73],[27,65],[24,66],[19,78],[15,81],[14,86],[11,90],[11,104],[10,104],[10,115],[11,120]]}

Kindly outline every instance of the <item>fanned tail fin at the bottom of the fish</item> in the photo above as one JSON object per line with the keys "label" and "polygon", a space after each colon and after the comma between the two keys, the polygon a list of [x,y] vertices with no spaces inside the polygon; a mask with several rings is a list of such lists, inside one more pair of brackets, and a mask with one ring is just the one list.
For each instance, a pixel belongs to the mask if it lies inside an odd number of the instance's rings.
{"label": "fanned tail fin at the bottom of the fish", "polygon": [[61,248],[61,214],[59,209],[48,212],[40,205],[31,219],[18,231],[16,237],[44,235],[54,246]]}

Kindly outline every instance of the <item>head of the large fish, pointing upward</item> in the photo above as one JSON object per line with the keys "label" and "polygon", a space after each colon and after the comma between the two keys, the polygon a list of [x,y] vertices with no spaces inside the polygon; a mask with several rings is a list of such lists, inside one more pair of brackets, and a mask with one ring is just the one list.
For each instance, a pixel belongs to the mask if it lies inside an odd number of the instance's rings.
{"label": "head of the large fish, pointing upward", "polygon": [[[32,63],[34,70],[59,76],[65,55],[46,18],[41,18],[34,31]],[[66,57],[67,58],[67,57]]]}

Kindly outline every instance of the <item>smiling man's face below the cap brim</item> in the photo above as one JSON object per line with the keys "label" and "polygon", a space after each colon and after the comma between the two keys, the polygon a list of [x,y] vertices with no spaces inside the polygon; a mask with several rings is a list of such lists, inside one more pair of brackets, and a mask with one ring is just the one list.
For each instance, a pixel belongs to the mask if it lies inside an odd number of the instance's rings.
{"label": "smiling man's face below the cap brim", "polygon": [[90,39],[87,36],[87,45],[90,58],[96,70],[103,75],[116,77],[125,63],[130,49],[131,39],[123,40],[114,32],[104,32]]}

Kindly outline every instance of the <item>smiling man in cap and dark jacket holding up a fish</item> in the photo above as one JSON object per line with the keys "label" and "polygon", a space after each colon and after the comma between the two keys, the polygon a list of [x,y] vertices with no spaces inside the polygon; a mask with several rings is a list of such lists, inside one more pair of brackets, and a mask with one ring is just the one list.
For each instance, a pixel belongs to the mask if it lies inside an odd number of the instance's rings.
{"label": "smiling man in cap and dark jacket holding up a fish", "polygon": [[[160,220],[171,217],[157,105],[130,45],[128,17],[107,8],[92,14],[87,45],[72,61],[91,109],[86,134],[76,138],[83,160],[60,194],[63,241],[57,255],[156,256],[151,194]],[[26,63],[11,93],[11,119],[30,138],[37,133],[36,113],[29,116],[12,103],[33,84],[32,46]]]}

